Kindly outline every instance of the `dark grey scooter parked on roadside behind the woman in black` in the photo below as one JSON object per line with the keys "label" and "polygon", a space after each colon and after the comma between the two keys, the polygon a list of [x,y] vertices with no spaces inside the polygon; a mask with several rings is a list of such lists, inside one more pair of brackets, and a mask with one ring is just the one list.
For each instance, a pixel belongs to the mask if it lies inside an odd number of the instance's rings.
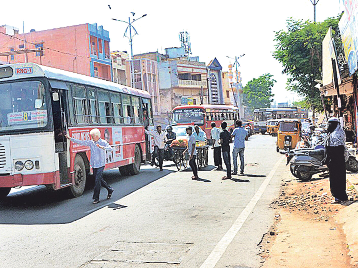
{"label": "dark grey scooter parked on roadside behind the woman in black", "polygon": [[[286,165],[291,162],[290,171],[292,175],[302,181],[308,181],[312,178],[312,175],[318,173],[323,173],[320,177],[328,175],[328,168],[322,165],[324,148],[321,148],[322,145],[319,145],[319,147],[318,149],[301,148],[286,152]],[[345,168],[351,172],[358,172],[358,161],[353,155],[349,155]]]}

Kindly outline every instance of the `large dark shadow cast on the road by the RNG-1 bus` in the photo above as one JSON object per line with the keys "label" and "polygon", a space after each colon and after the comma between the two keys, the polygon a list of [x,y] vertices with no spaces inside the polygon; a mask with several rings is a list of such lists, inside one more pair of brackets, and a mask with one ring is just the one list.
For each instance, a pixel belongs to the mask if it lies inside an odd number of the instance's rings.
{"label": "large dark shadow cast on the road by the RNG-1 bus", "polygon": [[[145,174],[144,174],[145,172]],[[172,170],[142,168],[135,176],[122,176],[118,169],[103,173],[103,178],[113,187],[111,199],[106,199],[107,191],[101,188],[98,204],[92,204],[93,186],[86,187],[77,198],[69,198],[64,190],[52,191],[45,187],[34,187],[10,194],[0,200],[0,224],[61,224],[81,219],[108,205],[114,206],[118,199],[168,175]],[[124,208],[124,205],[117,205]],[[119,207],[121,206],[121,207]]]}

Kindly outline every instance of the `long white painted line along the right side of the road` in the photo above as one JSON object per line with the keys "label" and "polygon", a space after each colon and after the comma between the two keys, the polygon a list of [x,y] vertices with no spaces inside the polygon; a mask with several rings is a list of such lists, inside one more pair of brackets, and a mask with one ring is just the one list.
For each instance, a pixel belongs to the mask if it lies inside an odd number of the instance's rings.
{"label": "long white painted line along the right side of the road", "polygon": [[263,192],[265,192],[267,185],[269,185],[270,180],[274,177],[274,174],[279,167],[280,163],[284,157],[282,156],[279,161],[274,165],[271,169],[269,175],[267,175],[266,179],[262,182],[260,188],[258,188],[255,195],[252,197],[250,202],[246,205],[246,207],[242,210],[239,217],[235,220],[233,225],[227,231],[227,233],[221,238],[219,243],[215,246],[213,251],[210,253],[208,258],[203,262],[200,268],[214,268],[221,256],[224,254],[225,250],[227,249],[228,245],[232,242],[238,231],[241,229],[242,225],[245,223],[246,219],[250,215],[251,211],[257,204],[258,200],[261,198]]}

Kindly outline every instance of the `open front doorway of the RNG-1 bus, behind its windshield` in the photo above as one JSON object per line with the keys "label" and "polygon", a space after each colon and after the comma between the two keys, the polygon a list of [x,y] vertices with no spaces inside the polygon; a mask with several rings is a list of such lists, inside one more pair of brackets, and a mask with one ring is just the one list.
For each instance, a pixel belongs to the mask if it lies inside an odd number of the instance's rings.
{"label": "open front doorway of the RNG-1 bus, behind its windshield", "polygon": [[64,137],[67,133],[67,90],[52,89],[51,104],[53,127],[55,135],[55,152],[58,153],[60,184],[71,183],[71,177],[68,176],[68,149],[67,139]]}

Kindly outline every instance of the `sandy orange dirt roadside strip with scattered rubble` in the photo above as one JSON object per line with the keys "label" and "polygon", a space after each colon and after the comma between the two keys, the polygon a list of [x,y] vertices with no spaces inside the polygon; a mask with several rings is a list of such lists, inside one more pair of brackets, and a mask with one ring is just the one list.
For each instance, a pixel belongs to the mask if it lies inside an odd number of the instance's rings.
{"label": "sandy orange dirt roadside strip with scattered rubble", "polygon": [[331,204],[329,178],[301,182],[290,172],[285,177],[280,197],[270,206],[276,210],[275,224],[258,244],[262,267],[357,267],[350,263],[342,225],[335,219],[345,205],[358,200],[353,186],[347,180],[351,202]]}

